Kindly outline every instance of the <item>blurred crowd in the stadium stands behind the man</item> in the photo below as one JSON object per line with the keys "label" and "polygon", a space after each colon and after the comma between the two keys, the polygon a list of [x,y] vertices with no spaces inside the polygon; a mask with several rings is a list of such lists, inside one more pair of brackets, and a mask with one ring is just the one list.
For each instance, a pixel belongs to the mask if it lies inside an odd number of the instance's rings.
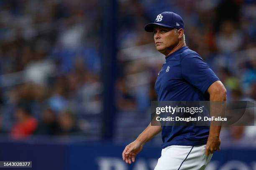
{"label": "blurred crowd in the stadium stands behind the man", "polygon": [[[163,11],[185,23],[186,43],[220,77],[228,100],[256,100],[254,0],[119,0],[115,138],[134,138],[150,120],[164,56],[144,25]],[[0,132],[100,139],[101,21],[98,0],[0,1]],[[106,42],[108,43],[108,42]],[[129,129],[129,130],[128,130]],[[233,142],[256,128],[223,130]]]}

